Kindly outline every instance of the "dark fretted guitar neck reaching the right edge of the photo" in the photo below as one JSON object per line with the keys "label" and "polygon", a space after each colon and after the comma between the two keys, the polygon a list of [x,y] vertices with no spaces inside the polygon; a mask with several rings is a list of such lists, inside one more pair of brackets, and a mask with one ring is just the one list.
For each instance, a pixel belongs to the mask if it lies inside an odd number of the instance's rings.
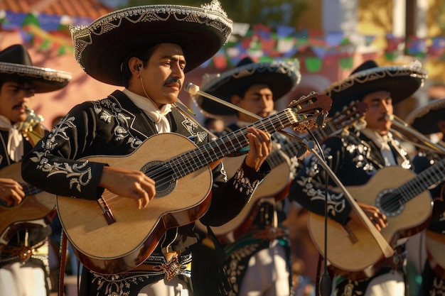
{"label": "dark fretted guitar neck reaching the right edge of the photo", "polygon": [[432,185],[439,185],[445,180],[445,159],[420,172],[416,177],[397,189],[402,195],[400,203],[406,204]]}

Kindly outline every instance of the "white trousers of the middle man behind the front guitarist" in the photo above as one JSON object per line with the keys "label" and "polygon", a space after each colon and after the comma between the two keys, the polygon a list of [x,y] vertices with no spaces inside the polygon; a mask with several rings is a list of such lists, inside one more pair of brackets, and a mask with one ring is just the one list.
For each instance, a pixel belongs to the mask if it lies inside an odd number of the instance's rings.
{"label": "white trousers of the middle man behind the front guitarist", "polygon": [[289,296],[289,293],[286,251],[274,241],[250,258],[239,296]]}

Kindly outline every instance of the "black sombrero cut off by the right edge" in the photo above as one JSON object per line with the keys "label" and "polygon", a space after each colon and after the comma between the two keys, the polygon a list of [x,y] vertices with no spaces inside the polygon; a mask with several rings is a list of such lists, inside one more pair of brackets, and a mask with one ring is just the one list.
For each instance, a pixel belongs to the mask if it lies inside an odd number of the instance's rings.
{"label": "black sombrero cut off by the right edge", "polygon": [[439,120],[445,120],[445,98],[434,99],[424,106],[411,111],[405,121],[424,135],[439,133]]}

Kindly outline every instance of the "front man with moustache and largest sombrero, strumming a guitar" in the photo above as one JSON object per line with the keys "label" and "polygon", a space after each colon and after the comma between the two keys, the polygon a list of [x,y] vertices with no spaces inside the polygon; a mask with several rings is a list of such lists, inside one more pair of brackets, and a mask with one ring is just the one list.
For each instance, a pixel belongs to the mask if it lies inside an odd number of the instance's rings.
{"label": "front man with moustache and largest sombrero, strumming a guitar", "polygon": [[[193,260],[204,256],[193,252],[194,221],[220,225],[240,212],[269,172],[270,136],[245,131],[250,151],[227,180],[220,150],[206,145],[208,133],[176,103],[186,72],[217,53],[231,31],[215,0],[137,6],[71,28],[85,72],[123,89],[73,107],[23,160],[23,177],[65,197],[58,214],[85,267],[80,295],[224,295],[225,273]],[[83,216],[95,209],[97,216]],[[205,283],[196,282],[199,273]]]}

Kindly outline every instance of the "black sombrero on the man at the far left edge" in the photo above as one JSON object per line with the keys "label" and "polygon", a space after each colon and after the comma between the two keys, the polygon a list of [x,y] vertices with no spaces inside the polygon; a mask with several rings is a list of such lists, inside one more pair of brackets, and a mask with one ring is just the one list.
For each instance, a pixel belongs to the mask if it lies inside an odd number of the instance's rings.
{"label": "black sombrero on the man at the far left edge", "polygon": [[33,66],[23,45],[11,45],[0,51],[0,80],[31,82],[36,93],[53,92],[65,87],[71,73]]}

